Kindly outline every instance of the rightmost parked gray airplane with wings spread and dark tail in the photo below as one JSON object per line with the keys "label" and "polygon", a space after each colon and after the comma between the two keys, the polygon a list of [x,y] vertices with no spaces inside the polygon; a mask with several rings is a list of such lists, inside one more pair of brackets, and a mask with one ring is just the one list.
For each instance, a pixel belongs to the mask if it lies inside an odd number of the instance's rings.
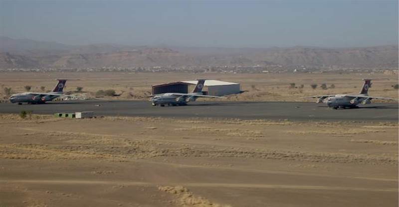
{"label": "rightmost parked gray airplane with wings spread and dark tail", "polygon": [[371,79],[363,79],[362,90],[359,94],[334,94],[334,95],[320,95],[320,96],[309,96],[303,98],[317,98],[316,103],[326,103],[328,107],[333,109],[338,108],[358,108],[359,104],[366,105],[371,104],[372,99],[385,99],[385,100],[397,100],[393,98],[384,98],[369,96],[368,91],[371,88]]}

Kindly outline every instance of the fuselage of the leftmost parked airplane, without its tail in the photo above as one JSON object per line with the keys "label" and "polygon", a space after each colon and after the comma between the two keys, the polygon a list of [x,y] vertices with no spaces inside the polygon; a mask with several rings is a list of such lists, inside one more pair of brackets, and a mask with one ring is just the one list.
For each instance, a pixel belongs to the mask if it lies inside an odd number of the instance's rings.
{"label": "fuselage of the leftmost parked airplane, without its tail", "polygon": [[46,101],[51,101],[55,98],[58,97],[58,94],[62,94],[59,92],[50,92],[50,94],[54,95],[38,95],[34,93],[17,93],[13,94],[10,98],[9,101],[11,103],[30,103],[30,104],[42,104],[45,103]]}

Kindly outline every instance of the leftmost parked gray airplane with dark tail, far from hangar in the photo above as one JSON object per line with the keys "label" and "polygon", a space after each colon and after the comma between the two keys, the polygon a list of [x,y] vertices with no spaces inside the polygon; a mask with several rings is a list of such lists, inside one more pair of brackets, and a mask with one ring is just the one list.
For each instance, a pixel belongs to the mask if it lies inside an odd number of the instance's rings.
{"label": "leftmost parked gray airplane with dark tail, far from hangar", "polygon": [[9,98],[11,103],[29,103],[29,104],[43,104],[46,101],[51,101],[59,96],[63,95],[63,89],[67,79],[57,79],[58,83],[52,92],[41,93],[41,92],[24,92],[12,94]]}

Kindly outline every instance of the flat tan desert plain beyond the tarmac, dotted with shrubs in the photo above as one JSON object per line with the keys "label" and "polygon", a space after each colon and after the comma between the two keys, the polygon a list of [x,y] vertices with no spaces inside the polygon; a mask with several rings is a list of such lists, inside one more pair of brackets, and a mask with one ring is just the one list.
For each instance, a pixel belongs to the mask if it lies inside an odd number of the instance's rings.
{"label": "flat tan desert plain beyond the tarmac, dotted with shrubs", "polygon": [[[87,97],[94,97],[98,90],[113,89],[118,97],[105,99],[147,100],[151,94],[151,85],[167,82],[195,80],[198,78],[218,79],[237,82],[241,90],[247,91],[238,95],[230,95],[223,100],[231,101],[314,101],[303,99],[314,96],[336,93],[359,93],[363,81],[361,78],[380,79],[373,81],[370,95],[398,98],[398,74],[384,73],[106,73],[106,72],[2,72],[0,75],[0,99],[7,100],[4,87],[11,88],[13,93],[24,92],[24,86],[32,86],[31,91],[52,90],[56,78],[77,78],[79,81],[68,81],[64,91],[74,92],[76,87],[83,87]],[[358,79],[358,80],[356,80]],[[295,83],[294,88],[289,88]],[[328,89],[322,89],[325,83]],[[318,84],[316,89],[311,84]],[[334,88],[331,85],[334,84]],[[303,88],[301,88],[303,85]],[[206,89],[206,88],[205,88]],[[203,100],[203,99],[199,99]],[[378,102],[378,100],[373,100]]]}

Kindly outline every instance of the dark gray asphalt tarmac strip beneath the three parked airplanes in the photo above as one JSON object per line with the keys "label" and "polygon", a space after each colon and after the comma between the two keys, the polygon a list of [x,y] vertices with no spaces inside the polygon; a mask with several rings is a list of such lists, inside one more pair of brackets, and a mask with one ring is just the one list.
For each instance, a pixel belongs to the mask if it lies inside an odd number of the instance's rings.
{"label": "dark gray asphalt tarmac strip beneath the three parked airplanes", "polygon": [[209,117],[237,119],[398,121],[398,104],[371,104],[333,110],[309,102],[193,102],[187,106],[154,107],[149,101],[63,101],[46,104],[0,104],[0,113],[34,114],[93,111],[96,116]]}

